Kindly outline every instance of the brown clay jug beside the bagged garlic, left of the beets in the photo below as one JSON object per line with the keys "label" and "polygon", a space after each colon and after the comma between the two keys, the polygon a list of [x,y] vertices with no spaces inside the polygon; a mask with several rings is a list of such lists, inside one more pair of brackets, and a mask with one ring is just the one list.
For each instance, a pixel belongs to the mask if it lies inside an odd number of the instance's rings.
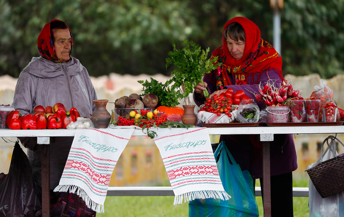
{"label": "brown clay jug beside the bagged garlic, left of the beets", "polygon": [[96,107],[91,116],[94,128],[108,128],[111,119],[110,113],[106,110],[108,101],[108,99],[93,100]]}

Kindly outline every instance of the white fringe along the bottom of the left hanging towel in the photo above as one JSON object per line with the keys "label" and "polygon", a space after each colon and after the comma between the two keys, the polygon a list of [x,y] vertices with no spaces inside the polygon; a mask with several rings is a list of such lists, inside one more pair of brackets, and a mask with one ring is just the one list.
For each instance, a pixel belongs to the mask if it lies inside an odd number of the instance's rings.
{"label": "white fringe along the bottom of the left hanging towel", "polygon": [[[69,191],[68,191],[69,190]],[[80,196],[86,203],[86,206],[97,213],[104,213],[104,205],[96,203],[87,195],[87,193],[80,187],[75,185],[59,185],[54,189],[54,192],[69,192]]]}

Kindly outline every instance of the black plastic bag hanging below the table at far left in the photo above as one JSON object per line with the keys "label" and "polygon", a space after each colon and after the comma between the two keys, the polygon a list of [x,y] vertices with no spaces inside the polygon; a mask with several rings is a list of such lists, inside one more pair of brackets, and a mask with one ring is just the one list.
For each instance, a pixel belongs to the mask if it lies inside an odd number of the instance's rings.
{"label": "black plastic bag hanging below the table at far left", "polygon": [[27,155],[14,145],[8,174],[0,173],[0,217],[40,217],[41,201]]}

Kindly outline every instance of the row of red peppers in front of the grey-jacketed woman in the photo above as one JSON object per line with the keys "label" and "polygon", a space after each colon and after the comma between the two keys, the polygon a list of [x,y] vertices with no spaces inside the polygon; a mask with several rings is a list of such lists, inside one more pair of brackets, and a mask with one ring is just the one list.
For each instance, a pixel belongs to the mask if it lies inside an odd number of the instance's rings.
{"label": "row of red peppers in front of the grey-jacketed woman", "polygon": [[13,130],[66,129],[67,125],[75,122],[78,117],[80,117],[79,111],[74,107],[70,109],[69,114],[66,114],[63,109],[58,109],[55,114],[49,115],[48,118],[45,113],[39,112],[22,116],[19,111],[15,110],[8,114],[6,124],[8,128]]}

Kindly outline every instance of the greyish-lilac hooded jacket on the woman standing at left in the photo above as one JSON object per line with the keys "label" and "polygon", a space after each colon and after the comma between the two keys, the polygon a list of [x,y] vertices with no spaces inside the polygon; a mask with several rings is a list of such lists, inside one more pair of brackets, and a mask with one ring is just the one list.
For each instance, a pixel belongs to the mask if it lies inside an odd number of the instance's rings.
{"label": "greyish-lilac hooded jacket on the woman standing at left", "polygon": [[[43,57],[33,57],[20,73],[12,107],[22,115],[31,113],[36,105],[53,106],[60,102],[67,111],[75,107],[81,117],[90,117],[97,99],[86,68],[74,57],[66,63],[53,63]],[[35,137],[20,138],[28,148],[33,177],[41,186],[41,147]],[[54,189],[62,175],[73,137],[55,137],[50,145],[50,187]]]}

